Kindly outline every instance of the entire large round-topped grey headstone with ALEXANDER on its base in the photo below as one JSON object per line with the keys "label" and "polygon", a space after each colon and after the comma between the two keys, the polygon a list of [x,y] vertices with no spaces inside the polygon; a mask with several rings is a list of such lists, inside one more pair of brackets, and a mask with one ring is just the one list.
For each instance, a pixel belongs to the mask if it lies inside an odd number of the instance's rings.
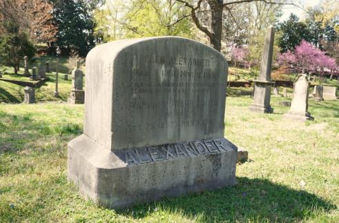
{"label": "entire large round-topped grey headstone with ALEXANDER on its base", "polygon": [[218,51],[179,37],[118,40],[90,51],[85,78],[68,178],[86,197],[123,208],[235,184]]}

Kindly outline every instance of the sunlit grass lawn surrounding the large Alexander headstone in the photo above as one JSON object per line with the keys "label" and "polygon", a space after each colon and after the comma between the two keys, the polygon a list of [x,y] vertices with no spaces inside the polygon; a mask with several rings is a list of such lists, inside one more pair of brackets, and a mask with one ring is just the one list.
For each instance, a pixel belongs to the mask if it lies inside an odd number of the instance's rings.
{"label": "sunlit grass lawn surrounding the large Alexander headstone", "polygon": [[0,104],[0,222],[339,222],[339,100],[309,100],[315,121],[285,121],[227,97],[225,137],[249,151],[234,187],[115,211],[67,180],[67,143],[83,105]]}

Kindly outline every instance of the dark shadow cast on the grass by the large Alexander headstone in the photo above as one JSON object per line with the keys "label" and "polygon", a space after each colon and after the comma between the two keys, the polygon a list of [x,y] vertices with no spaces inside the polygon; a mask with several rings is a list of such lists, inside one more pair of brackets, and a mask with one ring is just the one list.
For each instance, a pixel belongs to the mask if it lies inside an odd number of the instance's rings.
{"label": "dark shadow cast on the grass by the large Alexander headstone", "polygon": [[199,216],[203,222],[299,222],[319,212],[337,209],[335,204],[312,193],[266,179],[239,177],[237,180],[235,187],[165,198],[154,204],[138,204],[119,213],[140,219],[161,207],[168,213]]}

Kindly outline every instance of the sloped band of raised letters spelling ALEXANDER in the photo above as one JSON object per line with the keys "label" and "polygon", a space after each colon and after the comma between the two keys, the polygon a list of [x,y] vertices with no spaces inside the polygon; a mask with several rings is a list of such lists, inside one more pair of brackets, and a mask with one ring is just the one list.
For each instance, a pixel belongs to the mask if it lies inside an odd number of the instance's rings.
{"label": "sloped band of raised letters spelling ALEXANDER", "polygon": [[127,165],[139,165],[157,161],[167,161],[201,154],[227,152],[225,139],[194,141],[189,143],[172,143],[152,147],[118,150],[116,156]]}

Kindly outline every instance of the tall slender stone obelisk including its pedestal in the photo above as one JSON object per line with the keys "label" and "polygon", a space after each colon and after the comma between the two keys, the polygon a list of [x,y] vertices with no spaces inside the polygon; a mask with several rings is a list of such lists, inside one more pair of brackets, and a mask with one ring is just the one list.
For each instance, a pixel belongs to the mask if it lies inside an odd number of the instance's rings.
{"label": "tall slender stone obelisk including its pedestal", "polygon": [[273,56],[274,44],[274,27],[270,26],[267,29],[265,36],[265,47],[263,58],[261,60],[260,74],[258,80],[254,80],[254,102],[249,106],[249,110],[258,113],[273,113],[271,108],[271,64]]}

